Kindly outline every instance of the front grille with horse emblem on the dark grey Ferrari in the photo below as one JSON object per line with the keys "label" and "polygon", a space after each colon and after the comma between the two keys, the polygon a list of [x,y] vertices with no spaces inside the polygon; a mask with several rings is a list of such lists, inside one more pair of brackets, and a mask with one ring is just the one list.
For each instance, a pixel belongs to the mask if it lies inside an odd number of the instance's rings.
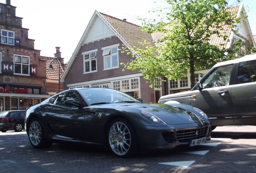
{"label": "front grille with horse emblem on the dark grey Ferrari", "polygon": [[199,139],[206,136],[208,126],[198,129],[180,130],[176,132],[176,137],[179,142],[189,142],[192,139]]}

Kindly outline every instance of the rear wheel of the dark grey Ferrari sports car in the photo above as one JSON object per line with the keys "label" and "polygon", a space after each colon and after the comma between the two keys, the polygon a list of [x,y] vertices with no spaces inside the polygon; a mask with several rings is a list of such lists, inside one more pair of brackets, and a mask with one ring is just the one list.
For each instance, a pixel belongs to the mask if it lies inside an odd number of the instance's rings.
{"label": "rear wheel of the dark grey Ferrari sports car", "polygon": [[43,126],[37,118],[32,119],[29,123],[28,135],[29,142],[34,148],[47,148],[52,145],[52,142],[45,138]]}

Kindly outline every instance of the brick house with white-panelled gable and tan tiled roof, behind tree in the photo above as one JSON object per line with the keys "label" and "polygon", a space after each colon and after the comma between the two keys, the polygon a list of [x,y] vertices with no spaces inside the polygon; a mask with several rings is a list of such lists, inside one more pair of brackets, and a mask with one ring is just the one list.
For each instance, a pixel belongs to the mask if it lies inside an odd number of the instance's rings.
{"label": "brick house with white-panelled gable and tan tiled roof, behind tree", "polygon": [[[245,18],[246,14],[242,13],[243,5],[235,6],[230,10]],[[224,41],[213,36],[211,44],[222,44],[228,48],[237,38],[241,38],[246,42],[246,46],[241,47],[241,51],[249,46],[256,47],[248,20],[237,24],[237,27],[239,28],[237,34],[231,29],[227,30],[229,40]],[[162,95],[190,90],[190,76],[183,80],[162,82],[160,89],[154,89],[149,87],[139,70],[122,70],[123,66],[120,62],[126,63],[134,59],[131,55],[121,53],[120,49],[123,45],[128,48],[138,46],[141,48],[140,42],[143,42],[143,39],[153,44],[155,36],[140,30],[140,26],[126,20],[95,11],[64,70],[61,78],[64,89],[107,87],[134,97],[142,97],[146,103],[157,102]],[[207,70],[200,72],[205,74]]]}

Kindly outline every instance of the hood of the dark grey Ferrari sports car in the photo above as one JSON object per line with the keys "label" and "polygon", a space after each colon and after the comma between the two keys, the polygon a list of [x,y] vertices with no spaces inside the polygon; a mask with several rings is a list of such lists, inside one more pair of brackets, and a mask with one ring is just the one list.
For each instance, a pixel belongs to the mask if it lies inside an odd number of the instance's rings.
{"label": "hood of the dark grey Ferrari sports car", "polygon": [[[180,104],[181,105],[181,104]],[[178,125],[178,124],[190,124],[196,123],[198,125],[202,125],[206,123],[209,119],[202,117],[199,113],[196,113],[191,106],[182,107],[179,105],[166,105],[159,103],[150,103],[150,104],[142,104],[142,103],[117,103],[113,104],[114,107],[126,107],[123,110],[132,111],[132,109],[147,111],[152,113],[153,115],[159,117],[162,121],[167,123],[168,125]],[[189,109],[188,109],[189,108]],[[122,108],[120,108],[122,109]]]}

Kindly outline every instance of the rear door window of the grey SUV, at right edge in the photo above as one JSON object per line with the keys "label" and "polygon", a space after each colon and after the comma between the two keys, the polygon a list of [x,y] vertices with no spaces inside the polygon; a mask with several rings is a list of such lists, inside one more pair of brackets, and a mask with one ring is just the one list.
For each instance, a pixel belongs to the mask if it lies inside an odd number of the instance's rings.
{"label": "rear door window of the grey SUV, at right edge", "polygon": [[256,60],[239,63],[237,84],[256,81]]}

